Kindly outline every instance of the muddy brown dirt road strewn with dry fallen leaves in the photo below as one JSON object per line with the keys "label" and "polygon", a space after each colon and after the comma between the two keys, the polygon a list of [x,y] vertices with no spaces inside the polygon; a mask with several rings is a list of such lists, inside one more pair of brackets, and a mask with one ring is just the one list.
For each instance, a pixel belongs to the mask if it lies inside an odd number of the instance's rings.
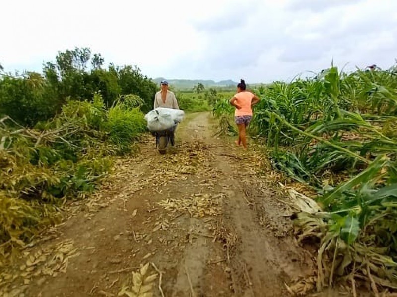
{"label": "muddy brown dirt road strewn with dry fallen leaves", "polygon": [[167,155],[150,138],[121,159],[100,191],[70,204],[65,223],[25,252],[9,292],[278,297],[314,275],[288,209],[260,172],[261,155],[212,137],[212,127],[207,113],[189,116]]}

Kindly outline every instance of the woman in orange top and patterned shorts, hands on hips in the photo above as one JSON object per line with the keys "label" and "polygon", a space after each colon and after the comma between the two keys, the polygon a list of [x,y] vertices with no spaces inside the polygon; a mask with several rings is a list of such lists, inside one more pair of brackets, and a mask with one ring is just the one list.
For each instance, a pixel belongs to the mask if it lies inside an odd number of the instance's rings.
{"label": "woman in orange top and patterned shorts, hands on hips", "polygon": [[230,104],[236,107],[234,121],[239,128],[239,138],[236,145],[243,144],[243,148],[247,149],[246,129],[252,119],[252,106],[259,102],[259,97],[246,90],[247,86],[243,79],[237,85],[237,93],[230,99]]}

